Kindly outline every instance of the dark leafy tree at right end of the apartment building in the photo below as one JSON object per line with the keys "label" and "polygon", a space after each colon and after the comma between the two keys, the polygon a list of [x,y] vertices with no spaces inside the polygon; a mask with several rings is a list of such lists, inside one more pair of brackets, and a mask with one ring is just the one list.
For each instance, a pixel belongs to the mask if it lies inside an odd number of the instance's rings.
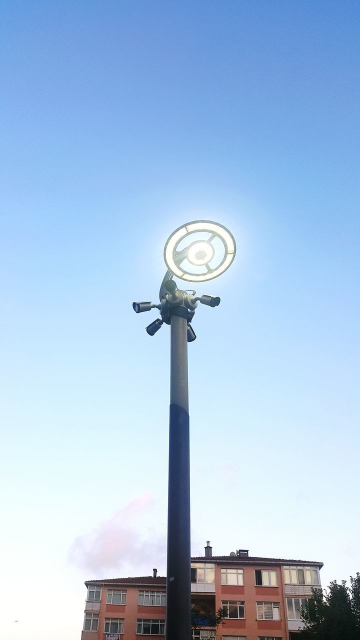
{"label": "dark leafy tree at right end of the apartment building", "polygon": [[300,610],[304,629],[299,640],[360,640],[360,573],[329,589],[311,589],[307,607]]}

